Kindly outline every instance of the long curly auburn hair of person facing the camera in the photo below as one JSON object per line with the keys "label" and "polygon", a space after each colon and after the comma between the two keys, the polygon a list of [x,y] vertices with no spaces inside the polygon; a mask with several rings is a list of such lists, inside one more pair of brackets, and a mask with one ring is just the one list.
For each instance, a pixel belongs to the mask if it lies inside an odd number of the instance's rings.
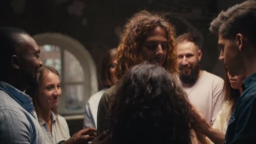
{"label": "long curly auburn hair of person facing the camera", "polygon": [[175,51],[176,32],[174,26],[164,18],[164,15],[139,11],[129,19],[124,26],[118,46],[117,68],[115,77],[120,79],[127,70],[143,62],[141,47],[150,30],[161,27],[165,30],[167,39],[167,55],[162,65],[170,74],[178,73],[177,54]]}

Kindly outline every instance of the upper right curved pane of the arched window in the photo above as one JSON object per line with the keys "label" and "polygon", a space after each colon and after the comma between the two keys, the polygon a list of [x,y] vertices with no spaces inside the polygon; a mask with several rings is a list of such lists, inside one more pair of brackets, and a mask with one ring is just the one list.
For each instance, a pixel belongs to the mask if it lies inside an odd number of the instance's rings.
{"label": "upper right curved pane of the arched window", "polygon": [[65,82],[83,82],[84,71],[80,62],[69,51],[64,51]]}

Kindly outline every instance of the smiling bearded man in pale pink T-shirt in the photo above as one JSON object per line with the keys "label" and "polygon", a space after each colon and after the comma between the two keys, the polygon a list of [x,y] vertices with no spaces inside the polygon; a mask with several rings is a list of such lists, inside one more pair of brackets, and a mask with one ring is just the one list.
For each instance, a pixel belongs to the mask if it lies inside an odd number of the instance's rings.
{"label": "smiling bearded man in pale pink T-shirt", "polygon": [[176,44],[179,81],[191,103],[202,111],[207,123],[213,124],[224,103],[222,99],[224,81],[200,69],[202,51],[196,37],[190,33],[179,35]]}

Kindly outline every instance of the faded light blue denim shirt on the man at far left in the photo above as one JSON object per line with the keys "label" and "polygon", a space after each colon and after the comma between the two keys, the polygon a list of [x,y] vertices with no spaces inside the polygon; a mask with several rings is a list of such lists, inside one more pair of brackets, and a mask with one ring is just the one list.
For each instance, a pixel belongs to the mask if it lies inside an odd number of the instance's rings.
{"label": "faded light blue denim shirt on the man at far left", "polygon": [[0,81],[0,143],[45,143],[32,98]]}

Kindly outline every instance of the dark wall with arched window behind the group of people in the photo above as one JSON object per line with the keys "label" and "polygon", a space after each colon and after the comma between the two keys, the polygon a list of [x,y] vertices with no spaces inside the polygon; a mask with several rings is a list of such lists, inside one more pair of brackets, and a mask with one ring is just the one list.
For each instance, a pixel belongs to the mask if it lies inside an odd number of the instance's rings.
{"label": "dark wall with arched window behind the group of people", "polygon": [[45,64],[61,74],[59,114],[71,135],[83,128],[83,109],[101,89],[98,72],[107,50],[118,46],[127,19],[138,10],[165,13],[177,35],[193,33],[201,40],[201,68],[224,78],[218,61],[218,38],[208,30],[221,10],[242,0],[9,0],[1,1],[0,26],[25,29],[41,47]]}

